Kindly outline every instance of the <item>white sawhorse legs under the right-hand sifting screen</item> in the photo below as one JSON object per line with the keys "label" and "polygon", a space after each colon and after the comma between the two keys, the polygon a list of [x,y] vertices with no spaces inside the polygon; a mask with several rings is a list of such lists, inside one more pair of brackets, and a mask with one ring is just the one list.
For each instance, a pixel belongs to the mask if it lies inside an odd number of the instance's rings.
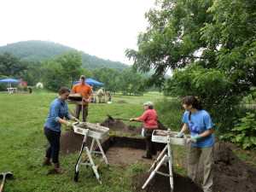
{"label": "white sawhorse legs under the right-hand sifting screen", "polygon": [[[167,154],[166,154],[167,151]],[[159,172],[160,166],[168,162],[169,164],[169,174],[165,172]],[[153,170],[153,171],[152,171]],[[153,165],[150,167],[148,172],[151,172],[147,181],[143,184],[143,189],[145,189],[151,179],[154,177],[156,173],[170,177],[170,185],[171,185],[171,192],[173,191],[173,172],[172,172],[172,148],[171,148],[171,137],[170,135],[167,136],[167,144],[166,147],[160,152],[157,159],[154,160]]]}

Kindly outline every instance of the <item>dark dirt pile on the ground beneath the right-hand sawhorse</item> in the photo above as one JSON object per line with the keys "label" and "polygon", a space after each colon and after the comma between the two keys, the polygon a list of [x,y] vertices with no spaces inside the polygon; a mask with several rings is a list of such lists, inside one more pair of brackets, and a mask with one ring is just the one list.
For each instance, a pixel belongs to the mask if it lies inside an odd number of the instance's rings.
{"label": "dark dirt pile on the ground beneath the right-hand sawhorse", "polygon": [[[166,166],[161,166],[160,172],[168,172]],[[137,192],[170,192],[170,179],[169,177],[156,174],[154,178],[148,183],[146,189],[142,189],[143,184],[148,179],[150,173],[143,173],[133,177],[134,191]],[[174,191],[173,192],[203,192],[200,187],[192,183],[189,177],[182,177],[174,173],[173,177]]]}

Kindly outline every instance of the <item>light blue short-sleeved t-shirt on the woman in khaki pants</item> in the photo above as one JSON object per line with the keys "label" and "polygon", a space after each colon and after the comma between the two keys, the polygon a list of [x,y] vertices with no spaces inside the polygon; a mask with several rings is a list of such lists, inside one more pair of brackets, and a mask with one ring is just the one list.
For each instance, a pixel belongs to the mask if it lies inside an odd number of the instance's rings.
{"label": "light blue short-sleeved t-shirt on the woman in khaki pants", "polygon": [[[191,113],[189,120],[189,111],[183,113],[183,123],[189,125],[189,131],[191,136],[196,134],[201,134],[204,131],[213,128],[212,119],[206,110],[198,110],[195,113]],[[192,143],[193,147],[196,148],[208,148],[212,147],[214,144],[214,134],[208,137],[202,137],[197,143]]]}

